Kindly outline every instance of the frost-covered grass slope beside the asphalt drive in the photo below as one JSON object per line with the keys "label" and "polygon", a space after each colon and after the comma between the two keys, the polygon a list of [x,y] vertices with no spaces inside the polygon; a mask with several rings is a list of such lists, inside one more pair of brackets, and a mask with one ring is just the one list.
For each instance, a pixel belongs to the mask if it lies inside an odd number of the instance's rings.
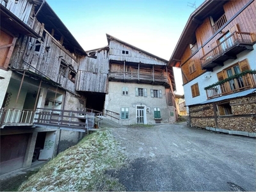
{"label": "frost-covered grass slope beside the asphalt drive", "polygon": [[125,157],[108,130],[86,136],[24,182],[19,191],[120,191],[118,180],[104,174],[120,168]]}

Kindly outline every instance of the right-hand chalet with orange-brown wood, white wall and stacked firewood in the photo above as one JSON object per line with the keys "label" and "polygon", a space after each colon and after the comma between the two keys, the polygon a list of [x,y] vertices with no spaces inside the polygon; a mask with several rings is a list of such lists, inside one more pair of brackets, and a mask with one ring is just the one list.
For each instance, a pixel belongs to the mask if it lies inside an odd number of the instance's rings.
{"label": "right-hand chalet with orange-brown wood, white wall and stacked firewood", "polygon": [[256,3],[206,0],[168,63],[182,71],[189,125],[256,136]]}

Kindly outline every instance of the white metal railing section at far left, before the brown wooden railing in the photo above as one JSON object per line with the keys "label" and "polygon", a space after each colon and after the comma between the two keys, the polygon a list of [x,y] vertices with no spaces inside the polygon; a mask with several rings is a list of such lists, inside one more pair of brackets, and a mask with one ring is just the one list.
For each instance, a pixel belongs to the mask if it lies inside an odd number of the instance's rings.
{"label": "white metal railing section at far left, before the brown wooden railing", "polygon": [[0,127],[5,125],[32,125],[35,111],[29,109],[2,108],[0,111]]}

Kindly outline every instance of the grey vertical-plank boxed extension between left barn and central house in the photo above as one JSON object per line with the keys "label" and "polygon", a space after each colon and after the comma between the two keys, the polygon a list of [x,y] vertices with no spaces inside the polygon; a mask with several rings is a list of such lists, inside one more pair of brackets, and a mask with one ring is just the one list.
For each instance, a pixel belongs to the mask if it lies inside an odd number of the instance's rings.
{"label": "grey vertical-plank boxed extension between left barn and central house", "polygon": [[76,90],[82,92],[107,92],[108,84],[108,50],[101,50],[97,58],[81,58],[77,73]]}

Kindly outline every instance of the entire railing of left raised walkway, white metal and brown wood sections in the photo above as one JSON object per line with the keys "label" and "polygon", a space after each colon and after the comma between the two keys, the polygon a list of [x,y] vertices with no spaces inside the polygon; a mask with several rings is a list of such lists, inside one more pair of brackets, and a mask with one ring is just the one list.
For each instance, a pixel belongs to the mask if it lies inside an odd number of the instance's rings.
{"label": "entire railing of left raised walkway, white metal and brown wood sections", "polygon": [[0,111],[0,128],[6,126],[33,126],[60,128],[72,131],[92,131],[99,127],[102,112],[93,109],[78,108],[77,111],[37,108],[3,108]]}

